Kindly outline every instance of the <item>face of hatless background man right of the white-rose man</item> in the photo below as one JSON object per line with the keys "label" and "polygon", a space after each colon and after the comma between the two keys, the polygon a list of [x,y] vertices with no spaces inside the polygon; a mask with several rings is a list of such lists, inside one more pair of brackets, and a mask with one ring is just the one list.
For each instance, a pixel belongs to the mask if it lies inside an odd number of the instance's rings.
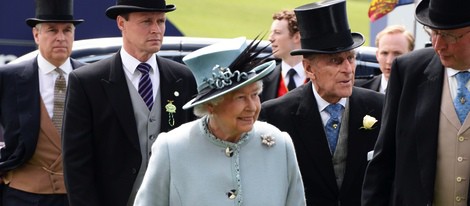
{"label": "face of hatless background man right of the white-rose man", "polygon": [[408,48],[409,43],[404,34],[391,33],[380,38],[376,57],[385,79],[388,80],[390,77],[393,60],[397,56],[409,52]]}

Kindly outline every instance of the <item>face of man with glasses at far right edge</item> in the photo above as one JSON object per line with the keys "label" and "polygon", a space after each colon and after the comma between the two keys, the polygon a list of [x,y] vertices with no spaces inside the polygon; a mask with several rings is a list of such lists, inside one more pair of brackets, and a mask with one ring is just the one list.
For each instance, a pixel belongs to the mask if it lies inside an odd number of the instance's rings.
{"label": "face of man with glasses at far right edge", "polygon": [[[470,68],[470,26],[452,30],[434,30],[434,32],[438,34],[431,35],[431,41],[442,64],[457,70]],[[445,38],[454,40],[449,41]]]}

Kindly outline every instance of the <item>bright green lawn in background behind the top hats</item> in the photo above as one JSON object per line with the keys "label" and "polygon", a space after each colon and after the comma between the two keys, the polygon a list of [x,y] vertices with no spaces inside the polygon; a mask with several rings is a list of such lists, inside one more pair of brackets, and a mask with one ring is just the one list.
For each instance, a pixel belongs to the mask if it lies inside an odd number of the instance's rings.
{"label": "bright green lawn in background behind the top hats", "polygon": [[[314,1],[312,1],[314,2]],[[272,14],[311,3],[300,0],[167,0],[176,10],[170,19],[185,36],[254,38],[269,33]],[[369,42],[369,0],[347,0],[349,25]],[[266,37],[265,37],[266,38]]]}

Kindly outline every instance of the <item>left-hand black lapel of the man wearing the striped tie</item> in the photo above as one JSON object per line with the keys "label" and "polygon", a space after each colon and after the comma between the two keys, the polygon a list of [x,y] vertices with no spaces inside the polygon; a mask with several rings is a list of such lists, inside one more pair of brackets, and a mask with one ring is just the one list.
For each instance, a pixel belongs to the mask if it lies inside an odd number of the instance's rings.
{"label": "left-hand black lapel of the man wearing the striped tie", "polygon": [[140,151],[134,109],[119,52],[112,57],[109,78],[102,79],[101,83],[109,96],[110,106],[114,108],[116,116],[122,123],[127,138],[132,146]]}

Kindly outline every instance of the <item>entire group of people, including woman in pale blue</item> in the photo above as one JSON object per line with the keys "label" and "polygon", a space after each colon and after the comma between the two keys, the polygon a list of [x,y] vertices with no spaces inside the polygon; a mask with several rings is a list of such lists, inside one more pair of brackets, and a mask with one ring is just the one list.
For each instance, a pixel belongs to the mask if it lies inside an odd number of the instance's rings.
{"label": "entire group of people, including woman in pale blue", "polygon": [[0,206],[470,205],[469,1],[422,0],[431,47],[376,36],[355,79],[346,1],[272,16],[263,37],[156,55],[165,0],[117,0],[122,48],[70,57],[72,0],[36,0],[37,57],[0,67]]}

